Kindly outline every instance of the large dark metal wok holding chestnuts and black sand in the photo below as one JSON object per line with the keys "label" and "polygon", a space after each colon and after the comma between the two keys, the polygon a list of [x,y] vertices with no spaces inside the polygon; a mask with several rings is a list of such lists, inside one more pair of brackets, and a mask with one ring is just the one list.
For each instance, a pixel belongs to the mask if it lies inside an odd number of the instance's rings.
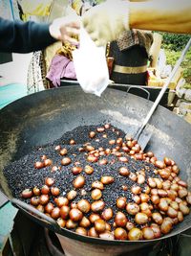
{"label": "large dark metal wok holding chestnuts and black sand", "polygon": [[[64,132],[83,125],[109,122],[129,133],[138,128],[151,105],[150,101],[115,89],[106,89],[101,98],[98,98],[84,93],[79,86],[71,85],[38,92],[4,107],[0,111],[1,190],[12,199],[2,170],[12,161],[29,153],[33,146],[53,142]],[[159,159],[164,155],[172,157],[180,166],[180,176],[191,187],[191,126],[168,109],[159,106],[147,131],[153,135],[146,150],[154,151]],[[52,219],[44,214],[41,215],[42,219],[40,215],[33,215],[27,204],[22,207],[19,202],[16,204],[34,221],[74,240],[124,246],[135,244],[136,247],[152,243],[83,237],[70,230],[60,229],[55,221],[51,221]],[[191,214],[161,239],[179,234],[189,227]]]}

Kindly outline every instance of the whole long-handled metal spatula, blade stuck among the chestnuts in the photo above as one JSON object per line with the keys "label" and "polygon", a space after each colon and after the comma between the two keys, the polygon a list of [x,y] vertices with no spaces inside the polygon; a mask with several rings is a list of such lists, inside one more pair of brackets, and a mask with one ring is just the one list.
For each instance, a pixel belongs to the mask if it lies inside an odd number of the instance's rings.
{"label": "whole long-handled metal spatula, blade stuck among the chestnuts", "polygon": [[[134,135],[131,134],[131,137],[134,138],[135,140],[138,140],[138,144],[140,145],[142,151],[145,149],[145,147],[147,146],[152,133],[148,133],[145,131],[145,127],[148,124],[151,116],[153,115],[153,113],[155,112],[157,106],[159,105],[159,102],[162,98],[162,96],[164,95],[166,89],[168,88],[170,82],[172,81],[172,79],[174,78],[175,74],[178,71],[178,68],[180,67],[180,63],[183,60],[183,58],[185,57],[187,51],[189,50],[191,45],[191,38],[189,39],[189,41],[187,42],[185,48],[183,49],[183,51],[181,52],[180,58],[178,59],[176,65],[174,66],[168,80],[164,83],[163,87],[161,88],[160,92],[159,92],[159,96],[156,99],[156,101],[154,102],[154,104],[152,105],[150,111],[148,112],[146,118],[144,119],[142,125],[140,126],[140,128],[138,128],[138,130],[135,132]],[[130,134],[127,134],[126,137],[130,137]]]}

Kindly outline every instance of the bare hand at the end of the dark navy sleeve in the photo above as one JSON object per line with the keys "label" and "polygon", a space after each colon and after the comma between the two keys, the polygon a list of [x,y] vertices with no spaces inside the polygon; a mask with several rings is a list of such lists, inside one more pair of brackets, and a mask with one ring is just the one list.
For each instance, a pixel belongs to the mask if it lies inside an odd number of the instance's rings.
{"label": "bare hand at the end of the dark navy sleeve", "polygon": [[62,42],[76,44],[76,37],[79,35],[80,19],[76,15],[56,18],[49,27],[50,34],[53,38]]}

